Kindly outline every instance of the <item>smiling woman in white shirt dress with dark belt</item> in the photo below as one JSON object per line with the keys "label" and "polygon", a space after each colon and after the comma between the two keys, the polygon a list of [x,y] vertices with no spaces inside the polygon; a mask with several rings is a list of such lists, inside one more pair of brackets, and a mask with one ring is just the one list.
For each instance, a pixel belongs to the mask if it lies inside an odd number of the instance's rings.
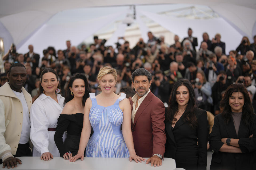
{"label": "smiling woman in white shirt dress with dark belt", "polygon": [[[56,71],[44,69],[40,79],[39,91],[30,109],[30,139],[34,145],[33,156],[41,156],[41,160],[51,160],[53,156],[59,156],[54,134],[65,98],[56,93],[60,91]],[[63,140],[65,138],[64,133]]]}

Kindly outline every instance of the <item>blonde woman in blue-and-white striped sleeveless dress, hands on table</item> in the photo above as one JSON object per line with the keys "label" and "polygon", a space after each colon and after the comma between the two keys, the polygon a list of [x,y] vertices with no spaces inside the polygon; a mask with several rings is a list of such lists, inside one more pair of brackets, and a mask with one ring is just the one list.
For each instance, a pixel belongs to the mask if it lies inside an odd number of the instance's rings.
{"label": "blonde woman in blue-and-white striped sleeveless dress, hands on table", "polygon": [[[117,71],[111,67],[102,67],[97,78],[102,93],[97,96],[90,93],[90,98],[86,100],[79,150],[70,161],[83,160],[85,147],[86,157],[145,161],[134,151],[130,102],[125,94],[119,96],[113,91],[117,83]],[[91,126],[94,133],[89,139]]]}

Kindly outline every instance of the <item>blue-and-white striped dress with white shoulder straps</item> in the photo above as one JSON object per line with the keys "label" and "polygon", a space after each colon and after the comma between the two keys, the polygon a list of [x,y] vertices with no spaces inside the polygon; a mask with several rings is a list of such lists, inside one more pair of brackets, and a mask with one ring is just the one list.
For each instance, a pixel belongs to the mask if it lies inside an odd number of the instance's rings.
{"label": "blue-and-white striped dress with white shoulder straps", "polygon": [[119,107],[119,101],[125,99],[125,94],[108,107],[97,104],[95,93],[90,93],[90,99],[93,105],[89,120],[93,127],[93,135],[86,146],[86,157],[128,158],[129,151],[120,129],[123,112]]}

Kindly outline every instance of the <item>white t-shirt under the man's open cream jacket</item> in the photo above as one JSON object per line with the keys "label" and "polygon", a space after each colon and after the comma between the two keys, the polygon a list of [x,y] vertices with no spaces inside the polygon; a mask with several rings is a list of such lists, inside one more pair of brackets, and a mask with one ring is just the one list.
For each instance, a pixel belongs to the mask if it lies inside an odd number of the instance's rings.
{"label": "white t-shirt under the man's open cream jacket", "polygon": [[21,92],[13,91],[14,94],[19,98],[23,108],[23,119],[22,119],[22,130],[21,138],[19,139],[20,144],[25,144],[29,142],[30,138],[30,119],[29,119],[29,109],[27,108],[27,102],[24,97],[24,94]]}

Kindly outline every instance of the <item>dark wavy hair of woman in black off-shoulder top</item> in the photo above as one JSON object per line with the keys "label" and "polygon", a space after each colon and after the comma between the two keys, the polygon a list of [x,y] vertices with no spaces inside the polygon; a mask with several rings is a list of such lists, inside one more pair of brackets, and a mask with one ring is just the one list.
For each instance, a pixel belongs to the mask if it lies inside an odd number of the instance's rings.
{"label": "dark wavy hair of woman in black off-shoulder top", "polygon": [[85,101],[89,97],[89,93],[91,91],[90,91],[90,88],[89,88],[89,84],[88,84],[87,78],[82,73],[76,73],[75,75],[70,77],[69,82],[67,83],[67,87],[65,89],[64,105],[74,98],[74,95],[73,96],[71,95],[71,91],[70,91],[69,87],[72,87],[73,82],[74,82],[75,79],[82,79],[85,82],[85,94],[83,95],[83,100],[82,100],[82,104],[84,106],[85,105]]}

